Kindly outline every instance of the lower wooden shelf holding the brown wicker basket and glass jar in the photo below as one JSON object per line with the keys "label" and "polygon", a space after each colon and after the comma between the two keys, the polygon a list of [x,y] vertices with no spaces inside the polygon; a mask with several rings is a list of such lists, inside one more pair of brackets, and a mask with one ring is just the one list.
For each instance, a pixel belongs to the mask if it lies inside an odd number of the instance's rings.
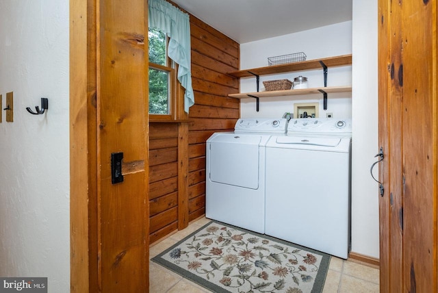
{"label": "lower wooden shelf holding the brown wicker basket and glass jar", "polygon": [[248,94],[259,98],[266,97],[281,97],[281,96],[295,96],[297,94],[321,94],[320,90],[326,93],[331,92],[351,92],[351,86],[327,86],[326,88],[300,88],[296,90],[272,90],[265,92],[245,92],[240,94],[229,94],[228,97],[236,99],[249,98]]}

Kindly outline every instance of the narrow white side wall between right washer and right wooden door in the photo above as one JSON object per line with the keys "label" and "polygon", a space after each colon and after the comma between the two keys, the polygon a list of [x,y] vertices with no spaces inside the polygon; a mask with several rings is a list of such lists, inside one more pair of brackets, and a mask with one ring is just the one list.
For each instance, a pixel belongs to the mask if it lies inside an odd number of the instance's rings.
{"label": "narrow white side wall between right washer and right wooden door", "polygon": [[370,166],[378,153],[377,23],[377,0],[353,0],[352,251],[376,258],[378,184]]}

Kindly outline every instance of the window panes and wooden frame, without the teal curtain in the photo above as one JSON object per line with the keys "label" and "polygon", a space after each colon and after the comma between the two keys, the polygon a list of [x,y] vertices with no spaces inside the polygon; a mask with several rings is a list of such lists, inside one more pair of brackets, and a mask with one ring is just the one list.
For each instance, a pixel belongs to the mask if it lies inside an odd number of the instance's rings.
{"label": "window panes and wooden frame, without the teal curtain", "polygon": [[[149,29],[149,114],[175,117],[175,70],[167,57],[168,38],[159,29]],[[166,119],[166,120],[168,120]]]}

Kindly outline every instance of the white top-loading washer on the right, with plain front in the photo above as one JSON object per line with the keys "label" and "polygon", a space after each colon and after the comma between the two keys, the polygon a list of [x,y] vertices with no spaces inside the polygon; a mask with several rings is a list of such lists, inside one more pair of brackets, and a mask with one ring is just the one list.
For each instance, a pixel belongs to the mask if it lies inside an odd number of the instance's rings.
{"label": "white top-loading washer on the right, with plain front", "polygon": [[267,235],[344,259],[350,249],[351,120],[289,120],[266,144]]}

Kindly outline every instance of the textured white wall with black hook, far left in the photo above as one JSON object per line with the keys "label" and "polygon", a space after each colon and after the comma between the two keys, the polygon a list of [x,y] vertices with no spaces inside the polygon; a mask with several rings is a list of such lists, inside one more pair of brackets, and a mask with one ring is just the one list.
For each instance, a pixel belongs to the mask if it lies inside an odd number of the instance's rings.
{"label": "textured white wall with black hook, far left", "polygon": [[[0,276],[70,291],[68,0],[0,1]],[[47,114],[31,115],[40,98]]]}

